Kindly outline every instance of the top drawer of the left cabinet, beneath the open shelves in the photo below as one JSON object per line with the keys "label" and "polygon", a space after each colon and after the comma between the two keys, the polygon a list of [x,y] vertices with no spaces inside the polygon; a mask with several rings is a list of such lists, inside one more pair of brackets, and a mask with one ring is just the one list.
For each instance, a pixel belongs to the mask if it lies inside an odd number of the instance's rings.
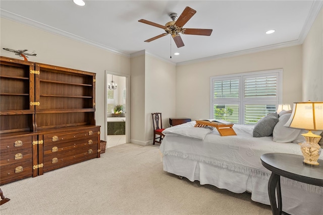
{"label": "top drawer of the left cabinet, beneath the open shelves", "polygon": [[11,138],[1,138],[1,154],[25,149],[30,149],[30,151],[32,150],[32,136],[15,136]]}

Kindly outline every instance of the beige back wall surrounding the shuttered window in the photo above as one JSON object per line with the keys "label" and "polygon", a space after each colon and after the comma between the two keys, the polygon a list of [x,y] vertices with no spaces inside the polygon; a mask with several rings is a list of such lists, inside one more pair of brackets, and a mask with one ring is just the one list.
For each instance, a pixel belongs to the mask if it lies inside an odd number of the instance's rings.
{"label": "beige back wall surrounding the shuttered window", "polygon": [[302,46],[177,66],[176,117],[209,118],[211,76],[283,69],[283,103],[302,97]]}

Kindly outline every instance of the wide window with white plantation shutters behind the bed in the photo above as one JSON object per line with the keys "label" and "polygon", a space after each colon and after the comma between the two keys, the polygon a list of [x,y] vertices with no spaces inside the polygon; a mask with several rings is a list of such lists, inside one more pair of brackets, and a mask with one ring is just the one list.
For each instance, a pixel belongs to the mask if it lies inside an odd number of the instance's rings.
{"label": "wide window with white plantation shutters behind the bed", "polygon": [[281,99],[282,69],[210,78],[210,118],[255,124],[276,112]]}

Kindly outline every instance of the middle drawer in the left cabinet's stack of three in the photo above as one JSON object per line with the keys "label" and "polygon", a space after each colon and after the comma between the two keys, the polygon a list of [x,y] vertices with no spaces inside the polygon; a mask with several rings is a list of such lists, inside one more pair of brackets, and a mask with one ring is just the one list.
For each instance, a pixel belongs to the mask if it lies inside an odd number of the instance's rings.
{"label": "middle drawer in the left cabinet's stack of three", "polygon": [[12,164],[19,164],[25,161],[32,161],[32,150],[25,149],[15,152],[1,153],[0,166],[4,167]]}

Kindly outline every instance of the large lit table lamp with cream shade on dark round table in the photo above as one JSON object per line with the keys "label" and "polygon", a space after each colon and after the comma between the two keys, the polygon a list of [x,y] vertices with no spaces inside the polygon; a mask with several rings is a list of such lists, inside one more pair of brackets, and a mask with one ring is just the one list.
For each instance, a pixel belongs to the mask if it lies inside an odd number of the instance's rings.
{"label": "large lit table lamp with cream shade on dark round table", "polygon": [[317,160],[321,152],[318,141],[321,136],[311,131],[323,130],[323,102],[294,102],[292,115],[284,126],[308,130],[307,133],[301,134],[305,138],[305,141],[300,144],[304,157],[303,163],[318,166]]}

